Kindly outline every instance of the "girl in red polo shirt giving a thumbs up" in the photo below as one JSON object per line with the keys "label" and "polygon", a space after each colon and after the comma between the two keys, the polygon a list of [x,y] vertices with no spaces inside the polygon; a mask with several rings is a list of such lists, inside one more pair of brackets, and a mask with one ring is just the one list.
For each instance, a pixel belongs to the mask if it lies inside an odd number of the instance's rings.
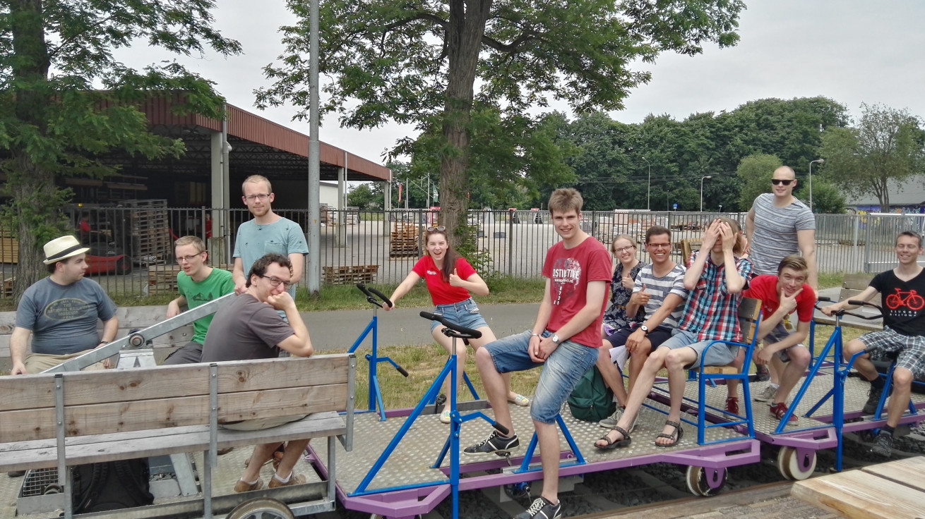
{"label": "girl in red polo shirt giving a thumbs up", "polygon": [[[395,303],[401,299],[401,296],[408,294],[414,284],[424,278],[427,285],[427,292],[430,293],[430,300],[435,305],[434,313],[442,314],[443,317],[451,322],[478,330],[482,336],[478,339],[469,339],[469,344],[478,349],[485,344],[495,340],[495,334],[488,328],[488,323],[482,318],[478,311],[478,306],[469,295],[470,292],[479,296],[488,295],[488,285],[475,272],[472,265],[465,258],[450,247],[447,240],[446,228],[427,227],[426,253],[417,260],[408,277],[395,288],[395,292],[389,299],[392,301],[392,307],[384,307],[386,311],[395,308]],[[443,346],[447,353],[452,350],[452,339],[444,335],[441,331],[445,328],[436,320],[431,321],[430,333],[434,340]],[[456,349],[457,360],[457,386],[462,383],[462,369],[465,367],[465,347]],[[448,378],[449,379],[449,378]],[[518,405],[529,405],[530,401],[524,395],[511,392],[511,374],[504,375],[504,382],[508,387],[508,401]],[[450,394],[449,380],[444,385],[443,391]],[[444,406],[443,412],[440,413],[440,421],[450,423],[450,402]]]}

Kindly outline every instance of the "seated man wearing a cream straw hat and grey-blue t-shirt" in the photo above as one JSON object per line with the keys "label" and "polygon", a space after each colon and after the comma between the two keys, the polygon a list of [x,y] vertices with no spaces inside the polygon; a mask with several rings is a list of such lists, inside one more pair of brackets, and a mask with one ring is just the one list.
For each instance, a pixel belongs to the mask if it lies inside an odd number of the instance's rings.
{"label": "seated man wearing a cream straw hat and grey-blue t-shirt", "polygon": [[[88,250],[74,236],[45,244],[44,264],[50,275],[27,288],[19,300],[9,338],[11,375],[53,368],[116,338],[116,305],[99,284],[83,277]],[[102,337],[97,320],[103,320]]]}

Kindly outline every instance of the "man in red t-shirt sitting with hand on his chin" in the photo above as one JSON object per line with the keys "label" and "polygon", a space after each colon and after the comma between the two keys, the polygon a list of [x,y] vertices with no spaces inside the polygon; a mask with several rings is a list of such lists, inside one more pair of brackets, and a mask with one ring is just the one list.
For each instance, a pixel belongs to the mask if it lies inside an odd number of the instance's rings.
{"label": "man in red t-shirt sitting with hand on his chin", "polygon": [[[776,371],[781,373],[781,385],[774,387],[772,382],[768,382],[755,400],[770,402],[771,416],[777,419],[783,418],[787,412],[787,396],[806,372],[811,360],[809,351],[802,344],[809,334],[809,322],[816,304],[816,293],[806,283],[808,276],[806,259],[792,254],[778,264],[776,276],[759,275],[748,282],[748,288],[742,293],[761,300],[758,337],[762,345],[755,353],[755,363],[775,363]],[[789,332],[783,325],[783,319],[795,309],[796,331]],[[726,383],[735,386],[738,380],[726,380]],[[794,424],[796,421],[796,416],[791,415],[787,423]]]}

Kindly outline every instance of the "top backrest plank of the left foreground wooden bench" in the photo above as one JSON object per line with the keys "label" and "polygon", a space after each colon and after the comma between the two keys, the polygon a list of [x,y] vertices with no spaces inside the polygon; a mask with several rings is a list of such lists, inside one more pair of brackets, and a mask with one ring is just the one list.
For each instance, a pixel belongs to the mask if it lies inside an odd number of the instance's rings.
{"label": "top backrest plank of the left foreground wooden bench", "polygon": [[[270,358],[217,363],[218,392],[248,392],[327,385],[347,380],[350,356]],[[204,395],[209,365],[110,369],[66,373],[65,405],[133,402]],[[0,411],[55,406],[53,374],[0,377]]]}

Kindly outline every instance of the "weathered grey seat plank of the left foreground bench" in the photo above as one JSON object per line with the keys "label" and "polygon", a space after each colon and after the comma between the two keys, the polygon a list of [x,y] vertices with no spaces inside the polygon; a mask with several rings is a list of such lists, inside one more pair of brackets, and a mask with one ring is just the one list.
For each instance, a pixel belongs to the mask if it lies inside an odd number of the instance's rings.
{"label": "weathered grey seat plank of the left foreground bench", "polygon": [[[145,431],[144,441],[136,440],[138,433],[114,433],[66,441],[68,465],[100,463],[128,458],[157,456],[170,453],[204,451],[209,445],[207,426],[197,428],[169,428]],[[269,441],[290,441],[322,438],[346,434],[347,426],[337,413],[319,413],[298,422],[276,428],[255,431],[218,429],[218,447],[243,447]],[[130,436],[134,434],[136,436]],[[77,440],[81,442],[78,443]],[[90,440],[90,441],[88,441]],[[7,444],[9,445],[9,444]],[[6,447],[6,445],[4,446]],[[0,472],[30,468],[49,468],[57,465],[54,444],[19,444],[19,450],[8,449],[0,456]]]}

